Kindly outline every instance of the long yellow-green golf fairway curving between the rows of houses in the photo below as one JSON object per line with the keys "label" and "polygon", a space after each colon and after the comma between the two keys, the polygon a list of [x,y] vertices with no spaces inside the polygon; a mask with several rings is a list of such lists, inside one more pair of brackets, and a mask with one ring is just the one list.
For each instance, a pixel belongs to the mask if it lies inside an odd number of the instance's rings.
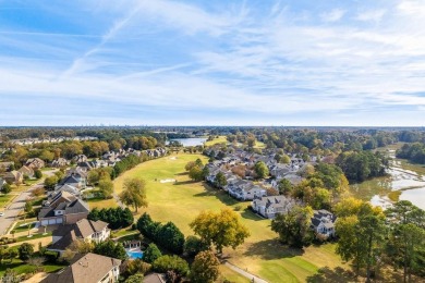
{"label": "long yellow-green golf fairway curving between the rows of houses", "polygon": [[[116,193],[122,190],[123,180],[141,177],[146,181],[148,207],[138,214],[148,212],[155,221],[172,221],[187,236],[193,234],[189,223],[202,210],[218,211],[224,207],[242,205],[238,213],[248,227],[251,236],[236,250],[224,249],[229,261],[247,269],[269,282],[305,282],[319,268],[345,267],[335,254],[335,245],[311,246],[304,250],[290,249],[279,244],[277,234],[270,230],[270,220],[264,220],[247,210],[250,202],[239,202],[224,192],[217,192],[204,183],[193,183],[184,172],[189,161],[206,157],[201,155],[173,155],[139,164],[114,181]],[[177,182],[160,183],[174,179]]]}

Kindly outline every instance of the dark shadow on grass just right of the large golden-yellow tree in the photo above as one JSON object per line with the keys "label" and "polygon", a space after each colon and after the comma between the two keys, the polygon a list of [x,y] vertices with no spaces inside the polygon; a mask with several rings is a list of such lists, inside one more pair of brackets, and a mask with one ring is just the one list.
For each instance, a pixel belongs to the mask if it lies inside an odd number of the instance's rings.
{"label": "dark shadow on grass just right of the large golden-yellow tree", "polygon": [[302,256],[303,254],[303,249],[284,246],[276,238],[265,239],[250,245],[247,250],[244,253],[244,256],[260,257],[263,260],[272,260],[292,258]]}

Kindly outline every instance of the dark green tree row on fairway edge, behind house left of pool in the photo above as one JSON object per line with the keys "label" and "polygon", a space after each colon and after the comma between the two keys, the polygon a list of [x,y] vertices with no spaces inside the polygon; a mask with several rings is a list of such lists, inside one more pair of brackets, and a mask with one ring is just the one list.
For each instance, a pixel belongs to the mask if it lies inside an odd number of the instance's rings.
{"label": "dark green tree row on fairway edge, behind house left of pool", "polygon": [[94,208],[87,216],[88,220],[97,221],[101,220],[109,223],[109,227],[117,230],[120,227],[126,227],[133,224],[133,213],[129,208]]}

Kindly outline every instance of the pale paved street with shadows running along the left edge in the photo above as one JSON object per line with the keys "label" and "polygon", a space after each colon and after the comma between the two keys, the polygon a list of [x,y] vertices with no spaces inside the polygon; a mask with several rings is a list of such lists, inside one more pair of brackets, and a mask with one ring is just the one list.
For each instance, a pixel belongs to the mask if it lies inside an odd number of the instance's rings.
{"label": "pale paved street with shadows running along the left edge", "polygon": [[[45,171],[44,174],[50,176],[54,174],[57,170]],[[4,216],[0,217],[0,235],[4,235],[8,232],[8,229],[15,221],[20,212],[25,208],[25,201],[32,196],[33,189],[37,187],[42,187],[42,182],[37,183],[31,186],[27,190],[22,192],[21,195],[15,197],[11,205],[4,209]]]}

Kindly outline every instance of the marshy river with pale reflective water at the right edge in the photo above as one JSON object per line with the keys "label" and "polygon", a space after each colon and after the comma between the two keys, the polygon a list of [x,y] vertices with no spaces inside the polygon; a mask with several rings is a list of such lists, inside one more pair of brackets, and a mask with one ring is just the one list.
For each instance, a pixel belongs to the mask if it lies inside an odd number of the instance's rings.
{"label": "marshy river with pale reflective water at the right edge", "polygon": [[386,150],[392,160],[388,176],[375,177],[361,184],[350,185],[351,193],[374,205],[386,204],[388,195],[398,190],[400,200],[409,200],[413,205],[425,209],[425,168],[411,164],[396,158],[396,150]]}

